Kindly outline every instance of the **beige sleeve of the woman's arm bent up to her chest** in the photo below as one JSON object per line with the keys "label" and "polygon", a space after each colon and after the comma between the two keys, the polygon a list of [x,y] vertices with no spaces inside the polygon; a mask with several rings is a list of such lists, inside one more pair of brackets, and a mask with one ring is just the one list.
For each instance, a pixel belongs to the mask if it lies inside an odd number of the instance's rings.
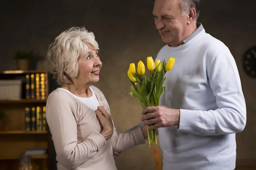
{"label": "beige sleeve of the woman's arm bent up to her chest", "polygon": [[73,169],[96,154],[106,141],[93,131],[84,142],[78,143],[75,101],[69,94],[54,92],[47,99],[47,123],[52,134],[58,161],[67,169]]}

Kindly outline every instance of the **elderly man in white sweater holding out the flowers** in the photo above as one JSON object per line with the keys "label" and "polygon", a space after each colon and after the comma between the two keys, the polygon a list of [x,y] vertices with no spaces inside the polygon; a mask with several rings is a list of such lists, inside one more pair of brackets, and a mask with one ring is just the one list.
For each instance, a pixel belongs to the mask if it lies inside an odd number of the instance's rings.
{"label": "elderly man in white sweater holding out the flowers", "polygon": [[175,57],[160,106],[142,111],[155,124],[163,170],[234,170],[236,133],[246,124],[239,72],[224,43],[200,23],[200,0],[155,0],[155,25],[165,45],[157,59]]}

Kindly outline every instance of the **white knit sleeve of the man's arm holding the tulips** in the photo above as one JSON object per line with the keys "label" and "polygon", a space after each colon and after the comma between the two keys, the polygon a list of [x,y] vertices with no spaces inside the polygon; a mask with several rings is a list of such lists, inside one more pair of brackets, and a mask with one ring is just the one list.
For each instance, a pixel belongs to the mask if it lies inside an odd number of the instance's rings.
{"label": "white knit sleeve of the man's arm holding the tulips", "polygon": [[197,135],[239,133],[246,124],[246,106],[236,62],[224,49],[207,65],[209,86],[218,109],[192,111],[180,109],[179,132]]}

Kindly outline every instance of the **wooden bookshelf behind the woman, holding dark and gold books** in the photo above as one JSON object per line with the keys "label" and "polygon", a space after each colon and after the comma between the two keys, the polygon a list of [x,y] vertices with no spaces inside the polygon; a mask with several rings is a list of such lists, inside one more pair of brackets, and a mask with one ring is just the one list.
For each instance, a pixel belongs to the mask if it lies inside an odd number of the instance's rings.
{"label": "wooden bookshelf behind the woman, holding dark and gold books", "polygon": [[[41,96],[38,99],[36,99],[36,97],[28,97],[29,99],[27,99],[28,93],[26,85],[28,84],[28,82],[26,76],[30,76],[31,74],[33,74],[34,76],[36,76],[36,74],[39,74],[39,76],[44,75],[42,76],[42,78],[39,77],[39,81],[42,80],[41,82],[44,82],[44,84],[40,84],[40,88],[44,87],[40,89],[40,95],[43,96],[42,92],[44,92],[44,97],[42,97],[43,99],[41,99]],[[18,169],[20,155],[25,153],[26,150],[29,148],[47,148],[47,154],[31,156],[31,163],[33,169],[37,169],[38,167],[44,167],[45,170],[49,170],[50,154],[48,129],[42,130],[42,128],[38,127],[38,124],[36,125],[36,128],[38,128],[38,130],[25,130],[25,127],[27,126],[27,123],[25,121],[27,111],[25,110],[25,108],[33,107],[40,108],[42,110],[42,108],[46,106],[49,91],[48,72],[44,70],[0,71],[0,80],[21,80],[22,82],[22,87],[20,87],[21,93],[19,94],[19,99],[3,100],[3,97],[0,98],[0,112],[4,113],[6,116],[3,120],[0,120],[0,170]],[[36,87],[36,79],[34,79],[33,81],[33,85],[34,87]],[[32,81],[29,80],[29,82]],[[29,87],[31,87],[31,84]],[[9,91],[12,90],[10,89]],[[38,113],[39,112],[36,112],[36,115],[38,115]],[[30,118],[30,120],[31,119],[32,117]],[[36,119],[36,121],[38,121],[38,119]]]}

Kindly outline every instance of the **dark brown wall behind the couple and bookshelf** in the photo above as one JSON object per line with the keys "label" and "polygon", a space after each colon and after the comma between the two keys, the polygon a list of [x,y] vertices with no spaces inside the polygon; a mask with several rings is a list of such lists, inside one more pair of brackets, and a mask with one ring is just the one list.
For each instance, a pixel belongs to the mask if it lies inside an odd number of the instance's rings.
{"label": "dark brown wall behind the couple and bookshelf", "polygon": [[[12,3],[12,4],[11,4]],[[154,26],[154,0],[44,0],[2,1],[0,10],[0,70],[16,69],[15,50],[34,50],[37,69],[49,69],[48,45],[70,26],[93,31],[101,48],[103,68],[96,84],[105,94],[118,131],[137,124],[141,107],[128,95],[130,83],[123,74],[129,63],[155,58],[164,45]],[[201,22],[207,33],[224,42],[239,69],[247,103],[247,126],[237,135],[237,158],[256,159],[256,79],[243,71],[244,51],[256,45],[254,0],[202,0]],[[243,144],[242,144],[243,143]],[[154,169],[148,144],[131,148],[116,158],[119,169]]]}

